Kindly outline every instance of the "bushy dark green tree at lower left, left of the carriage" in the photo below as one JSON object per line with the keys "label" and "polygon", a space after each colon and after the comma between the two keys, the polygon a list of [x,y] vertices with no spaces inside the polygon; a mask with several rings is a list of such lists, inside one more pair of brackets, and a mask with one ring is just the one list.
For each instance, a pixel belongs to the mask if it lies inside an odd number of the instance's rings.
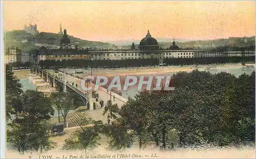
{"label": "bushy dark green tree at lower left, left of the carriage", "polygon": [[54,110],[50,99],[43,93],[27,90],[14,105],[15,119],[7,132],[8,142],[20,153],[50,147],[51,142],[45,129],[45,121],[51,118]]}

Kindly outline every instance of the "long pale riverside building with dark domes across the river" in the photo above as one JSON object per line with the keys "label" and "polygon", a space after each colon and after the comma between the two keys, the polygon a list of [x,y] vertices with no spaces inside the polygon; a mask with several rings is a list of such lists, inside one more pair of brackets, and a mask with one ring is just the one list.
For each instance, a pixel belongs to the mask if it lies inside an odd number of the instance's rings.
{"label": "long pale riverside building with dark domes across the river", "polygon": [[176,45],[175,39],[168,49],[160,49],[155,38],[150,31],[141,39],[138,48],[132,44],[129,50],[89,50],[71,48],[71,41],[67,30],[63,31],[60,39],[59,49],[41,48],[36,61],[41,60],[126,60],[126,59],[158,59],[159,63],[163,59],[170,58],[200,58],[200,57],[231,57],[231,56],[254,56],[255,50],[202,50],[202,49],[180,49]]}

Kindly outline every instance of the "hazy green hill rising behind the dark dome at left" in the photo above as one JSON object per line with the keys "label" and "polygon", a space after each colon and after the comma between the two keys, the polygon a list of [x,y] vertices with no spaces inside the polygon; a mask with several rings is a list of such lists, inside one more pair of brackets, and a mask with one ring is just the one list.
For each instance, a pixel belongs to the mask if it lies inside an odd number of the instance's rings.
{"label": "hazy green hill rising behind the dark dome at left", "polygon": [[[41,32],[36,35],[25,31],[9,31],[4,33],[5,47],[18,46],[22,51],[30,51],[40,44],[59,46],[61,35],[55,33]],[[78,47],[97,47],[97,48],[116,48],[116,45],[99,41],[88,41],[69,36],[71,45],[77,44]]]}

